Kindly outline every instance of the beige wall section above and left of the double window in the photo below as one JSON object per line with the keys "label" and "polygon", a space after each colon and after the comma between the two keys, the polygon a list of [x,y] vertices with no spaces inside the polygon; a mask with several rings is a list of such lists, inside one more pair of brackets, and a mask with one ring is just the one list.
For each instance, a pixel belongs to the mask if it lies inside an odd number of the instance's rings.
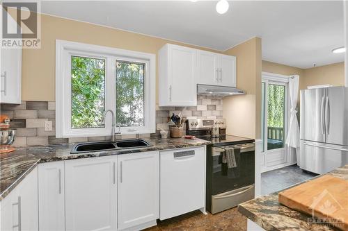
{"label": "beige wall section above and left of the double window", "polygon": [[[56,40],[111,46],[120,49],[155,53],[156,55],[161,46],[168,42],[180,44],[157,37],[49,15],[41,15],[41,26],[41,49],[23,49],[22,53],[23,101],[55,100]],[[181,45],[204,49],[187,44]],[[158,102],[158,94],[156,94],[156,99]]]}

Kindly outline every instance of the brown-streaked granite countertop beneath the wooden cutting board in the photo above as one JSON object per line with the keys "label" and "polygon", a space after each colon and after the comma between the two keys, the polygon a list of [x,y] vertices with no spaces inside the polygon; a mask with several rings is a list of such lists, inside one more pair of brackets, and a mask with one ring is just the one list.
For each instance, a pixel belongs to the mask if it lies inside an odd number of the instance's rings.
{"label": "brown-streaked granite countertop beneath the wooden cutting board", "polygon": [[[336,176],[348,180],[348,165],[342,166],[324,175]],[[310,179],[304,182],[308,181],[310,181]],[[303,184],[304,182],[297,185]],[[308,223],[308,218],[311,216],[278,203],[278,193],[279,191],[244,202],[238,206],[238,211],[251,221],[260,225],[264,230],[338,230],[338,228],[334,228],[331,225]]]}

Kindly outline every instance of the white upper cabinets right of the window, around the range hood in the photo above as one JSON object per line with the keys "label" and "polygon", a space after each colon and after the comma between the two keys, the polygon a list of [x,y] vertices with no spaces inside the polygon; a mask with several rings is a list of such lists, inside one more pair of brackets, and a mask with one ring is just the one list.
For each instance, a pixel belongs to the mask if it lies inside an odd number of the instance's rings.
{"label": "white upper cabinets right of the window, around the range hood", "polygon": [[236,87],[236,58],[186,46],[159,50],[159,106],[197,105],[197,84]]}

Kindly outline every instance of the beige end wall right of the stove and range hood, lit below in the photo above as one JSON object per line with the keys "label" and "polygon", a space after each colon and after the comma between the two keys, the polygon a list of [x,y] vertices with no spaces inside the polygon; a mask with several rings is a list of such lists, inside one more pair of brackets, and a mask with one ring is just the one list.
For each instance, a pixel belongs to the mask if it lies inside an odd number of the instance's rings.
{"label": "beige end wall right of the stove and range hood, lit below", "polygon": [[237,87],[246,95],[223,99],[223,117],[230,135],[260,138],[261,39],[254,37],[225,52],[237,57]]}

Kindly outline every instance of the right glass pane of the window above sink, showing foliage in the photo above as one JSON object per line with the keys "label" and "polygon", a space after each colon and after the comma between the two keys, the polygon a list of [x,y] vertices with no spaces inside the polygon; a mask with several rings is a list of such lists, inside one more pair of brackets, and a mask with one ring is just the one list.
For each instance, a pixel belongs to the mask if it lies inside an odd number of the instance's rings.
{"label": "right glass pane of the window above sink, showing foliage", "polygon": [[116,123],[143,126],[145,65],[116,62]]}

